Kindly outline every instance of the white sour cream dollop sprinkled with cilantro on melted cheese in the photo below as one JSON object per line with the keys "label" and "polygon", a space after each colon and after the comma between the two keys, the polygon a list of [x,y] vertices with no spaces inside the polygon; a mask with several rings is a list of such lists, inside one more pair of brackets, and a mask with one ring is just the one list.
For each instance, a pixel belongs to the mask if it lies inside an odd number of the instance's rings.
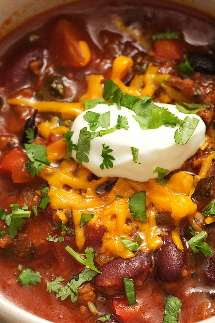
{"label": "white sour cream dollop sprinkled with cilantro on melted cheese", "polygon": [[[156,103],[159,107],[167,108],[172,114],[184,120],[186,114],[178,111],[175,105]],[[93,111],[99,114],[110,111],[110,127],[113,128],[117,124],[118,116],[128,119],[129,129],[115,130],[115,132],[105,134],[102,137],[96,137],[91,140],[89,162],[82,164],[92,171],[96,176],[124,177],[134,181],[145,182],[150,178],[156,178],[157,173],[153,173],[156,167],[168,169],[169,172],[181,168],[183,162],[196,153],[199,147],[205,141],[205,124],[197,115],[189,114],[189,117],[196,118],[199,123],[191,136],[191,139],[184,145],[178,144],[174,140],[174,133],[179,129],[179,125],[174,128],[161,126],[158,129],[142,130],[139,123],[133,118],[135,113],[125,107],[121,110],[115,104],[108,106],[107,104],[98,104]],[[81,113],[72,126],[73,143],[78,142],[80,130],[87,127],[88,122],[83,118],[86,111]],[[96,131],[104,130],[99,127]],[[100,165],[103,162],[102,150],[103,144],[112,149],[110,155],[115,160],[112,168],[102,170]],[[138,160],[140,164],[133,161],[131,147],[139,149]],[[72,157],[76,159],[76,151],[73,150]]]}

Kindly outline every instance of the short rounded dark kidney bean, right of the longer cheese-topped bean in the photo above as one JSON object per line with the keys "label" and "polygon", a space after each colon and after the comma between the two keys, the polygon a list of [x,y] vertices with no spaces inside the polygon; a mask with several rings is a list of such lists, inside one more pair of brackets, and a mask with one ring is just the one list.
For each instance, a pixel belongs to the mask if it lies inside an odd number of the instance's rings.
{"label": "short rounded dark kidney bean, right of the longer cheese-topped bean", "polygon": [[159,279],[173,281],[181,275],[184,253],[173,242],[163,245],[155,253],[155,266]]}

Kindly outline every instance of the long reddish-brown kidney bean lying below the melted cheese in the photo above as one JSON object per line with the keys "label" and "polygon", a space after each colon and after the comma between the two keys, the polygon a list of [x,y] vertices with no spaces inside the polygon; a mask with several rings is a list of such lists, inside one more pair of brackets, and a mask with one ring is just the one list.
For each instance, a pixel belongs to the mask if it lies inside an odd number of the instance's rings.
{"label": "long reddish-brown kidney bean lying below the melted cheese", "polygon": [[114,258],[99,267],[101,272],[95,277],[95,285],[112,295],[123,289],[123,278],[135,279],[142,276],[145,280],[152,268],[151,254],[136,252],[132,258]]}

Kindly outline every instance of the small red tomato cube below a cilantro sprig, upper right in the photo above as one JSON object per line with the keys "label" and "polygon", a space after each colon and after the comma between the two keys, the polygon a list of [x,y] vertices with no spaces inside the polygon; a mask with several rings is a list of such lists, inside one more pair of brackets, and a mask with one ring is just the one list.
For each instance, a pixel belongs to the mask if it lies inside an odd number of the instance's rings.
{"label": "small red tomato cube below a cilantro sprig, upper right", "polygon": [[154,58],[164,62],[173,59],[181,59],[183,48],[181,48],[177,40],[161,39],[154,43]]}

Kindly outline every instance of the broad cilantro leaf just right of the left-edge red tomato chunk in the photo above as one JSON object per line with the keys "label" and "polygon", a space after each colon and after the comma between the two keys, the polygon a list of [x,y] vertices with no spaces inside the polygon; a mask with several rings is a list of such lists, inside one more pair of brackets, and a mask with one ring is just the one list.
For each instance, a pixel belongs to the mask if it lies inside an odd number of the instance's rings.
{"label": "broad cilantro leaf just right of the left-edge red tomato chunk", "polygon": [[25,143],[24,147],[29,158],[25,168],[28,169],[31,177],[34,177],[35,174],[39,175],[39,172],[42,172],[45,165],[50,165],[50,161],[46,158],[47,151],[45,146]]}

